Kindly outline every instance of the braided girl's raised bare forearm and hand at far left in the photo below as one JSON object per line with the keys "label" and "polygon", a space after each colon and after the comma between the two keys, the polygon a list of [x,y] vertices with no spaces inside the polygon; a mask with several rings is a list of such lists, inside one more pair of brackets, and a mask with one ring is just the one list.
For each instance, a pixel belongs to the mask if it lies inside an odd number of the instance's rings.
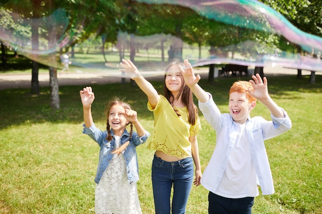
{"label": "braided girl's raised bare forearm and hand at far left", "polygon": [[83,104],[83,116],[84,116],[84,124],[86,127],[91,127],[93,125],[92,111],[91,106],[94,102],[95,95],[92,91],[92,87],[83,88],[83,90],[79,91],[81,96],[81,101]]}

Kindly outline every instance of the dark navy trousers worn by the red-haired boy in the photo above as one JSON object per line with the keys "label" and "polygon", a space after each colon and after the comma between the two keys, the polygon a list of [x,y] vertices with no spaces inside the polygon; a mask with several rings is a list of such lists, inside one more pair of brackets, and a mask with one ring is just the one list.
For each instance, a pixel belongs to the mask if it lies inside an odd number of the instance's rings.
{"label": "dark navy trousers worn by the red-haired boy", "polygon": [[254,197],[229,199],[213,192],[209,192],[208,201],[209,214],[251,214],[254,205]]}

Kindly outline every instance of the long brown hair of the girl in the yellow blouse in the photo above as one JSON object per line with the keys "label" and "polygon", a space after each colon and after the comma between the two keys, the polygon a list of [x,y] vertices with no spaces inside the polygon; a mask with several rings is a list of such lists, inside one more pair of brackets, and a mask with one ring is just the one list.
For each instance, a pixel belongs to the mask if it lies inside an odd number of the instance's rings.
{"label": "long brown hair of the girl in the yellow blouse", "polygon": [[[184,67],[183,62],[181,62],[178,59],[172,59],[169,61],[167,68],[166,68],[166,74],[165,74],[165,79],[167,76],[167,71],[169,68],[173,65],[178,65],[181,67]],[[181,116],[178,113],[178,110],[173,106],[173,101],[178,100],[181,95],[181,102],[183,102],[188,109],[188,121],[191,125],[195,124],[196,119],[198,118],[198,108],[194,105],[193,103],[193,95],[191,89],[186,85],[185,80],[183,79],[183,76],[181,75],[181,80],[182,80],[182,86],[180,89],[180,92],[176,96],[176,98],[173,96],[172,92],[167,88],[166,82],[164,83],[163,90],[165,92],[165,98],[169,101],[171,104],[173,110],[178,116]]]}

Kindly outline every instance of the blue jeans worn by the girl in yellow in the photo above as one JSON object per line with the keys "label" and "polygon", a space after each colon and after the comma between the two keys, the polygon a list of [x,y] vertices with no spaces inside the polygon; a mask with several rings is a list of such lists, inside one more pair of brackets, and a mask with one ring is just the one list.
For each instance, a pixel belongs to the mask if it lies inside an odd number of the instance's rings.
{"label": "blue jeans worn by the girl in yellow", "polygon": [[156,214],[170,213],[173,184],[172,214],[184,214],[193,181],[192,158],[167,162],[154,154],[152,187]]}

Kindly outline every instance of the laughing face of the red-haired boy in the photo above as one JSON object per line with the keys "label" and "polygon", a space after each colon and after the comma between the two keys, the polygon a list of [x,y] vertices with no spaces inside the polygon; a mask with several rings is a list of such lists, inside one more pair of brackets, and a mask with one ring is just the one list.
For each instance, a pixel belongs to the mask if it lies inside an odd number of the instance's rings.
{"label": "laughing face of the red-haired boy", "polygon": [[229,112],[236,123],[244,124],[255,106],[256,101],[249,103],[246,93],[232,92],[229,95]]}

